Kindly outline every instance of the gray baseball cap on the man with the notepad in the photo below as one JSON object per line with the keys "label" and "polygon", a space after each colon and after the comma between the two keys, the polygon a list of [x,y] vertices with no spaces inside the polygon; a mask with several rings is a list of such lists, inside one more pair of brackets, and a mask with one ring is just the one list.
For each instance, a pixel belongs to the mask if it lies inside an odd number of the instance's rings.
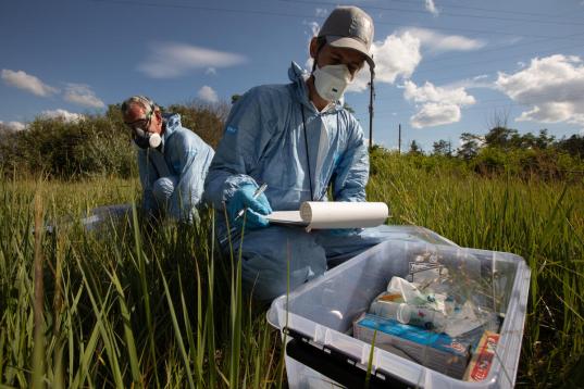
{"label": "gray baseball cap on the man with the notepad", "polygon": [[326,42],[333,47],[363,53],[369,66],[375,67],[369,52],[373,40],[373,20],[360,8],[337,7],[324,21],[319,37],[326,37]]}

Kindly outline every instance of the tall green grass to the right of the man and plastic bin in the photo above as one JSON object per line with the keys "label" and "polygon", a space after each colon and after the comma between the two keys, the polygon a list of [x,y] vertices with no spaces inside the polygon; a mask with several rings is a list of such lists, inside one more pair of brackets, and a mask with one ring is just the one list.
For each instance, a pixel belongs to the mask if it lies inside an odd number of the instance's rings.
{"label": "tall green grass to the right of the man and plastic bin", "polygon": [[[373,155],[370,200],[386,201],[395,224],[425,226],[463,247],[507,251],[532,269],[518,385],[582,379],[584,366],[584,181],[420,167]],[[427,167],[427,166],[426,166]]]}

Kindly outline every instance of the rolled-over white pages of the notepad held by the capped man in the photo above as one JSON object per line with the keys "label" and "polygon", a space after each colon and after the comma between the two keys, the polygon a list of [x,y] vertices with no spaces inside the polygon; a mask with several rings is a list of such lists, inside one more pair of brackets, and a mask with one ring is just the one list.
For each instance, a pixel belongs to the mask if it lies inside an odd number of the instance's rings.
{"label": "rolled-over white pages of the notepad held by the capped man", "polygon": [[384,202],[306,201],[300,205],[307,229],[376,227],[388,215]]}

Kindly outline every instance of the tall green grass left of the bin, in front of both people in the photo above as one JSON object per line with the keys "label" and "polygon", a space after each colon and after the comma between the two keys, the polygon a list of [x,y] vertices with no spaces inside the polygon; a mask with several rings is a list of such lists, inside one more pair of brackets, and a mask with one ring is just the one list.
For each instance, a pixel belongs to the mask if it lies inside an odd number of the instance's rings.
{"label": "tall green grass left of the bin, in front of both people", "polygon": [[[40,235],[35,193],[50,222],[99,204],[132,202],[136,184],[0,187],[1,384],[215,388],[268,387],[275,380],[278,336],[240,288],[233,289],[239,293],[235,309],[229,305],[232,266],[216,256],[210,212],[197,226],[154,228],[135,218],[95,234],[63,224]],[[45,260],[40,287],[39,255]],[[40,326],[38,292],[44,293]],[[235,352],[233,339],[239,344]]]}

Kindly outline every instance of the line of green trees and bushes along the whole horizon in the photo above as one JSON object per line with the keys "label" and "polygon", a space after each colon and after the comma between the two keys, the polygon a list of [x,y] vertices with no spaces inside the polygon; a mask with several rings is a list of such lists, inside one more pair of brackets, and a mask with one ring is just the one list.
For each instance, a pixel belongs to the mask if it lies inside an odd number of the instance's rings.
{"label": "line of green trees and bushes along the whole horizon", "polygon": [[[232,103],[239,96],[232,97]],[[184,127],[190,128],[216,148],[231,104],[191,101],[162,108],[179,113]],[[24,130],[0,124],[0,176],[23,177],[39,174],[60,179],[94,176],[136,177],[136,151],[131,133],[123,123],[120,104],[104,113],[82,118],[37,117]],[[376,146],[372,171],[377,158],[392,153]],[[463,133],[459,147],[449,140],[437,140],[430,152],[418,142],[410,143],[402,155],[425,170],[452,168],[482,175],[512,174],[522,177],[564,179],[584,176],[584,136],[556,139],[547,129],[538,135],[519,134],[506,123],[496,121],[486,135]]]}

